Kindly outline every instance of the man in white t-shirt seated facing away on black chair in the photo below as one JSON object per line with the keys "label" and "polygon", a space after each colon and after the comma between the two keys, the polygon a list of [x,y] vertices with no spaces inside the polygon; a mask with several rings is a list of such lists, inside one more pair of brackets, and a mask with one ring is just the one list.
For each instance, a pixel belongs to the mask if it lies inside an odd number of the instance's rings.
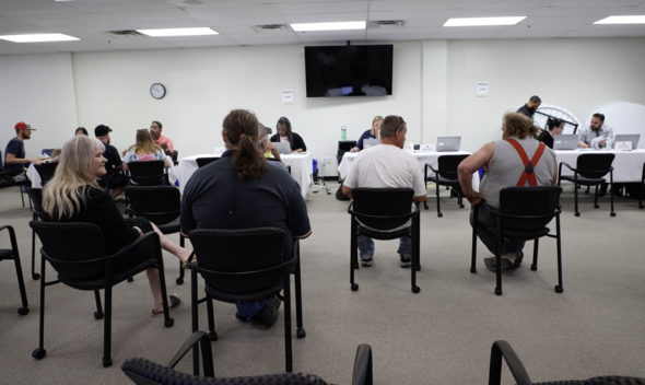
{"label": "man in white t-shirt seated facing away on black chair", "polygon": [[[425,201],[425,179],[421,165],[414,155],[403,151],[408,125],[400,116],[387,116],[380,126],[380,145],[374,145],[361,151],[348,177],[343,182],[342,192],[352,198],[352,189],[367,188],[412,188],[414,202]],[[410,226],[409,223],[398,231]],[[412,257],[412,240],[402,236],[397,252],[401,267],[409,268]],[[374,264],[374,241],[359,235],[359,256],[361,266],[371,267]]]}

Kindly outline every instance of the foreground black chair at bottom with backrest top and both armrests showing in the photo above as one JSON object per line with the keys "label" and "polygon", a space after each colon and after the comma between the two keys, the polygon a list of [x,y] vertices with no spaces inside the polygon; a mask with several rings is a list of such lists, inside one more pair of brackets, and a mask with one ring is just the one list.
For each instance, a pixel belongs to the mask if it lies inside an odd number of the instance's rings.
{"label": "foreground black chair at bottom with backrest top and both armrests showing", "polygon": [[[190,349],[201,348],[204,376],[189,375],[173,369],[188,353]],[[262,385],[321,385],[322,378],[307,373],[280,373],[257,375],[251,377],[222,378],[214,377],[213,352],[209,336],[203,331],[194,332],[177,351],[171,362],[164,366],[144,359],[130,359],[121,365],[121,371],[137,385],[167,385],[167,384],[262,384]],[[360,345],[354,359],[354,374],[352,385],[372,385],[372,347]]]}

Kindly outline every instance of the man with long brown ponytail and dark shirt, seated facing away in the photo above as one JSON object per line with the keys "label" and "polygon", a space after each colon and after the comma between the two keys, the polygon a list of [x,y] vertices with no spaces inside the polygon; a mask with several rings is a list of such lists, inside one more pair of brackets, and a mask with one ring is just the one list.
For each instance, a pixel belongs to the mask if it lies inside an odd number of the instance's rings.
{"label": "man with long brown ponytail and dark shirt, seated facing away", "polygon": [[[226,151],[218,162],[195,172],[181,196],[181,233],[196,229],[279,228],[284,230],[282,255],[293,255],[294,238],[309,235],[312,228],[301,189],[293,178],[267,164],[256,143],[261,139],[256,116],[232,110],[223,122]],[[200,256],[197,256],[200,264]],[[244,268],[244,266],[241,266]],[[235,317],[271,327],[279,315],[273,298],[237,304]]]}

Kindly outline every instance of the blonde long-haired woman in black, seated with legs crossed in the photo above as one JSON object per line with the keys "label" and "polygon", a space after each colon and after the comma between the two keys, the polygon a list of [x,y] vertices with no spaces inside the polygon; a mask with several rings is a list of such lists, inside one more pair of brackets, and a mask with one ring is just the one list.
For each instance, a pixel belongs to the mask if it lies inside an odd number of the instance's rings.
{"label": "blonde long-haired woman in black, seated with legs crossed", "polygon": [[[107,255],[116,254],[134,242],[143,233],[154,231],[159,234],[161,247],[183,262],[188,260],[190,250],[177,246],[163,235],[146,219],[136,218],[131,223],[124,220],[119,209],[96,184],[96,178],[105,175],[103,158],[104,145],[95,138],[83,135],[68,140],[62,147],[59,165],[49,183],[43,189],[43,208],[46,220],[54,222],[87,222],[97,225],[105,237]],[[115,260],[115,273],[128,270],[149,259],[154,250],[154,240],[148,238],[129,259]],[[148,269],[148,281],[154,298],[153,316],[163,315],[163,298],[157,269]],[[86,278],[103,277],[104,271],[87,271]],[[179,306],[180,300],[174,294],[165,299],[168,307]]]}

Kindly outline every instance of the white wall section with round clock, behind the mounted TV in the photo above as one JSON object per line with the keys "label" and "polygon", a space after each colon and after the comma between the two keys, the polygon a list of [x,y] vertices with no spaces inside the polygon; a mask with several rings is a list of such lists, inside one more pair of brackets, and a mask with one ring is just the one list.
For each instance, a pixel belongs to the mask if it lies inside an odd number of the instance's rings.
{"label": "white wall section with round clock, behind the mounted TV", "polygon": [[[300,45],[226,47],[73,56],[79,121],[110,126],[119,150],[134,131],[160,120],[179,158],[212,153],[223,145],[222,120],[233,108],[253,109],[266,126],[286,116],[314,158],[331,156],[322,175],[337,175],[336,151],[341,126],[357,139],[375,115],[401,115],[410,138],[421,131],[421,43],[395,44],[394,95],[307,98],[304,48]],[[154,100],[149,89],[163,83],[167,95]],[[282,90],[293,89],[294,104],[283,105]]]}

